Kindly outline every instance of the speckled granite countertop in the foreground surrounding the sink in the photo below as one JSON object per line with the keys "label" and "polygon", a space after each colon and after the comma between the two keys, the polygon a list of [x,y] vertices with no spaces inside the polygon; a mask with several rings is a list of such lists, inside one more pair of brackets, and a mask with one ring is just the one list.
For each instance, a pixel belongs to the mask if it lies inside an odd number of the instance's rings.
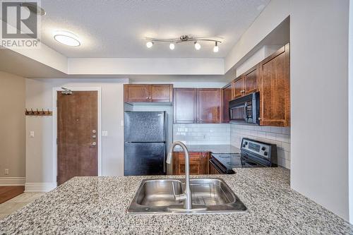
{"label": "speckled granite countertop in the foreground surrounding the sink", "polygon": [[292,191],[287,169],[236,171],[209,177],[224,179],[248,207],[245,213],[126,215],[141,180],[155,176],[76,177],[1,220],[0,234],[353,233],[343,219]]}

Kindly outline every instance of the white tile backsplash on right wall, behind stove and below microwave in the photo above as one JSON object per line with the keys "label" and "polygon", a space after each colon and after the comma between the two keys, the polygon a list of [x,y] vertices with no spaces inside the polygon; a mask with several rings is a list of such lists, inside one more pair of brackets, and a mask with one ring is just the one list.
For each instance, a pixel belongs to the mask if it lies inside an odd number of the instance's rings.
{"label": "white tile backsplash on right wall, behind stove and below microwave", "polygon": [[277,164],[290,169],[290,128],[230,124],[230,143],[241,145],[241,138],[251,138],[277,145]]}

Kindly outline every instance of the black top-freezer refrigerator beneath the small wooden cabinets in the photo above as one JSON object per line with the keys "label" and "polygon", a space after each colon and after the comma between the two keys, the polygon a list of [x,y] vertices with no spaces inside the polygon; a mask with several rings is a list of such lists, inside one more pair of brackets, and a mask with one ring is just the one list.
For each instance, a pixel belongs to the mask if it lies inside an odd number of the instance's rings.
{"label": "black top-freezer refrigerator beneath the small wooden cabinets", "polygon": [[166,112],[124,112],[124,175],[167,174]]}

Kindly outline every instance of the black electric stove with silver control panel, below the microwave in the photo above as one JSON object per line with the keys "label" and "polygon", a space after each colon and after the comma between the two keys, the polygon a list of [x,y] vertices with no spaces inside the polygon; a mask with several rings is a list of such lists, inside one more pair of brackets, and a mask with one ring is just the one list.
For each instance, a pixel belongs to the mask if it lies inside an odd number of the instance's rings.
{"label": "black electric stove with silver control panel, below the microwave", "polygon": [[234,174],[233,168],[277,167],[276,145],[243,138],[241,152],[212,154],[211,167],[219,174]]}

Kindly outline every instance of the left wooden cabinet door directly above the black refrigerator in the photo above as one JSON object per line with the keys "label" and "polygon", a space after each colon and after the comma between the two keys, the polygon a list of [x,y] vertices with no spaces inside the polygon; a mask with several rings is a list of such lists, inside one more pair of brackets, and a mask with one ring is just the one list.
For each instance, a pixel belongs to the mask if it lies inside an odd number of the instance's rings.
{"label": "left wooden cabinet door directly above the black refrigerator", "polygon": [[149,85],[124,84],[124,102],[150,102]]}

